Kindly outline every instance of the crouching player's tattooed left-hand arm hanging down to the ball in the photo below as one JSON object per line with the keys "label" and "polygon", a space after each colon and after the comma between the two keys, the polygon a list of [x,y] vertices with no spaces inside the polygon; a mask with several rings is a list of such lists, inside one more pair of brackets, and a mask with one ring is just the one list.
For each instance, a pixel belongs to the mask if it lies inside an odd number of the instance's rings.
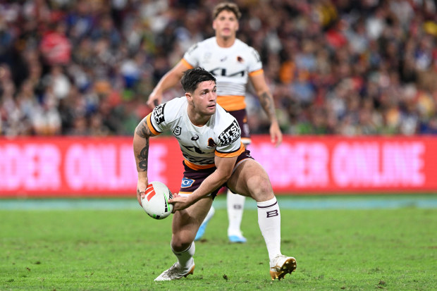
{"label": "crouching player's tattooed left-hand arm hanging down to the ball", "polygon": [[137,165],[138,181],[137,181],[137,200],[141,205],[141,196],[149,184],[147,178],[147,163],[149,160],[149,137],[155,135],[149,130],[147,125],[147,117],[145,117],[135,128],[133,135],[133,152],[135,155],[135,163]]}

